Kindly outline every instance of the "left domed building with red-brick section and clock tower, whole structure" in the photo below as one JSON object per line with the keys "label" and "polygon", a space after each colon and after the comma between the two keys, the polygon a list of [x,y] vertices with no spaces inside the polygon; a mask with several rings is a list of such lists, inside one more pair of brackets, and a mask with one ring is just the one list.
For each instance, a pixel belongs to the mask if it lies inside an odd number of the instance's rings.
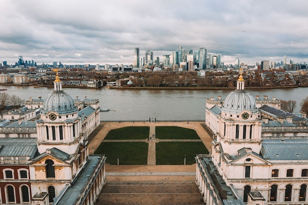
{"label": "left domed building with red-brick section and clock tower, whole structure", "polygon": [[106,157],[88,149],[99,123],[98,100],[73,100],[57,72],[36,120],[37,139],[0,138],[0,202],[93,205],[106,181]]}

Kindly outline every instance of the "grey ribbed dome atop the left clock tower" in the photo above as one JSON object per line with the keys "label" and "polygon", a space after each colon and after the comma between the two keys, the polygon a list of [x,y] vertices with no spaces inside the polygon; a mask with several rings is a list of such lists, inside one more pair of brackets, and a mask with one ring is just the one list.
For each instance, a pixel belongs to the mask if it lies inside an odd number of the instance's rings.
{"label": "grey ribbed dome atop the left clock tower", "polygon": [[54,90],[44,101],[42,113],[55,111],[60,115],[77,112],[73,98],[63,90]]}

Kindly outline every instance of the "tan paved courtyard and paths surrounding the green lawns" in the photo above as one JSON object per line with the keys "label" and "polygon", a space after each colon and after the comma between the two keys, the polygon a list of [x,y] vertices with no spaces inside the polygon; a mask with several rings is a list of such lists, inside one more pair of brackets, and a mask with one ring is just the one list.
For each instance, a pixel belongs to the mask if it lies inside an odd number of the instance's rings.
{"label": "tan paved courtyard and paths surrounding the green lawns", "polygon": [[102,122],[89,140],[90,154],[110,130],[127,126],[150,127],[148,165],[106,164],[106,184],[95,205],[203,205],[195,184],[195,164],[155,165],[155,143],[159,141],[155,137],[155,127],[194,129],[211,152],[212,137],[204,128],[204,122]]}

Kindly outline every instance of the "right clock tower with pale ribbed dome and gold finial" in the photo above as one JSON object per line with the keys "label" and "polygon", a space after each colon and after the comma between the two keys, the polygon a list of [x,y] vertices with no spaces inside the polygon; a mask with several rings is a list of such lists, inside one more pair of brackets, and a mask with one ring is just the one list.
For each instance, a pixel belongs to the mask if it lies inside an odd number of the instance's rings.
{"label": "right clock tower with pale ribbed dome and gold finial", "polygon": [[225,98],[218,118],[217,142],[224,153],[237,155],[243,147],[260,153],[262,120],[254,97],[245,90],[242,72],[237,89]]}

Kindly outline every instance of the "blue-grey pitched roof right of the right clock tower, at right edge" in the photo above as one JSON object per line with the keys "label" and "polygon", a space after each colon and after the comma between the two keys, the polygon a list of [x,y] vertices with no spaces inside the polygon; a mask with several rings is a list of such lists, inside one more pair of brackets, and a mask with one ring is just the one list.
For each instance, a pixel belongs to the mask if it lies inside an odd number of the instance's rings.
{"label": "blue-grey pitched roof right of the right clock tower, at right edge", "polygon": [[261,153],[269,160],[308,160],[307,139],[263,140]]}

